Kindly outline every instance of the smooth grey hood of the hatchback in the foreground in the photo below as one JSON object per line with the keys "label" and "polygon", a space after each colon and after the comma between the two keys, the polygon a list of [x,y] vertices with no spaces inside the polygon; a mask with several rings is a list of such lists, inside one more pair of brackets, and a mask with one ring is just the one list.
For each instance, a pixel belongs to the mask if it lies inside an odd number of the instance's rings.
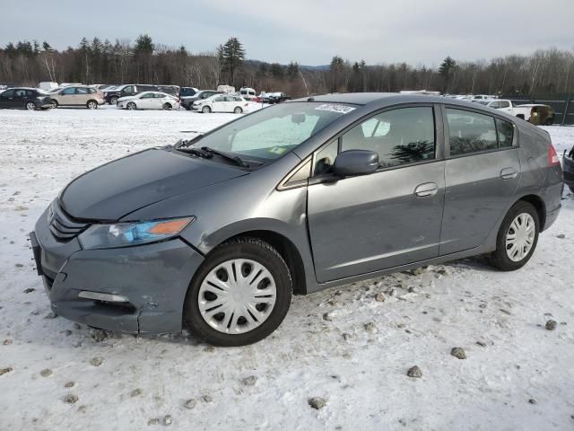
{"label": "smooth grey hood of the hatchback in the foreground", "polygon": [[213,160],[150,149],[84,173],[66,186],[60,204],[75,218],[116,221],[163,199],[247,174]]}

